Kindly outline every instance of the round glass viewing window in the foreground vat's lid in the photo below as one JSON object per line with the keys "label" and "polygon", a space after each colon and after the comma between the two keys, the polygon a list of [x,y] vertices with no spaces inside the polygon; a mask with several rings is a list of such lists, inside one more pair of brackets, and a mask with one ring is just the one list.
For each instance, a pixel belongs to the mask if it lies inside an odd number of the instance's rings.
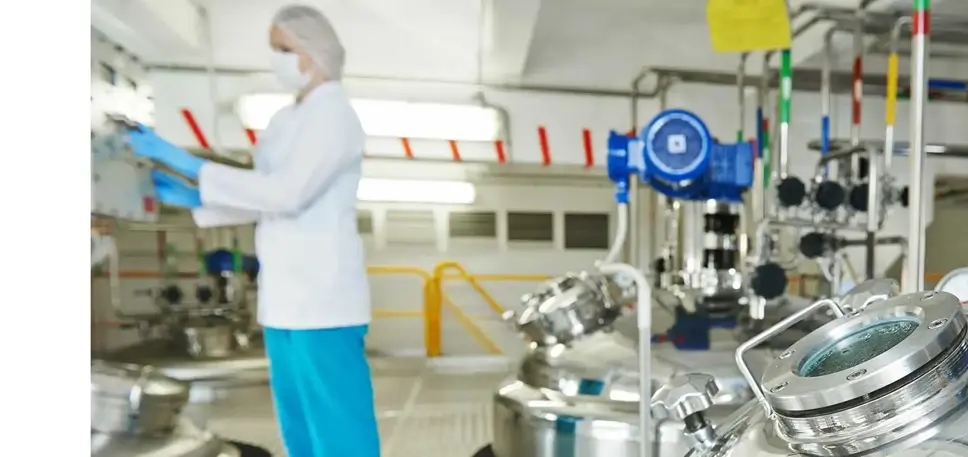
{"label": "round glass viewing window in the foreground vat's lid", "polygon": [[805,358],[797,374],[815,378],[849,370],[897,346],[919,325],[920,321],[911,317],[873,323]]}

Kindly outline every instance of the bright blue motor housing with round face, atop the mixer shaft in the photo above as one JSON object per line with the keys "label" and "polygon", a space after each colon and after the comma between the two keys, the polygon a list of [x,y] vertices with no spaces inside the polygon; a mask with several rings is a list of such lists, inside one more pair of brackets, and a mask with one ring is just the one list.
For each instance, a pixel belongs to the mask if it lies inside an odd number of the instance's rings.
{"label": "bright blue motor housing with round face, atop the mixer shaft", "polygon": [[[611,132],[608,176],[627,189],[629,175],[682,200],[741,202],[753,185],[753,146],[716,142],[703,121],[686,110],[659,113],[636,138]],[[618,196],[618,195],[617,195]]]}

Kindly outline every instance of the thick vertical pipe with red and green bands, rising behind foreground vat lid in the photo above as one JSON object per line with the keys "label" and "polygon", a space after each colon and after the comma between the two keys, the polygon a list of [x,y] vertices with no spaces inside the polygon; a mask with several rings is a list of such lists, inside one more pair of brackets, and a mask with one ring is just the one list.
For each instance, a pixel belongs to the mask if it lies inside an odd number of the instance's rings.
{"label": "thick vertical pipe with red and green bands, rising behind foreground vat lid", "polygon": [[924,288],[924,108],[930,46],[931,2],[914,0],[911,28],[911,214],[908,217],[907,292]]}

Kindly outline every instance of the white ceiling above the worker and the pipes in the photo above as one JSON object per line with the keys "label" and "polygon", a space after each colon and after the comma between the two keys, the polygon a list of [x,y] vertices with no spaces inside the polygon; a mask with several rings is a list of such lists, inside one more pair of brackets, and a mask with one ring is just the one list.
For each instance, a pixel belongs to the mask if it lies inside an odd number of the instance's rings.
{"label": "white ceiling above the worker and the pipes", "polygon": [[[347,49],[346,74],[473,82],[479,71],[506,65],[480,55],[482,37],[517,39],[522,26],[501,15],[533,2],[529,34],[512,43],[526,51],[516,79],[535,84],[625,88],[643,66],[733,71],[737,56],[710,49],[706,0],[484,0],[497,15],[486,30],[481,0],[311,0],[333,22]],[[803,0],[793,0],[794,4]],[[858,0],[827,0],[854,6]],[[910,8],[910,0],[881,0]],[[520,2],[516,4],[515,2]],[[968,15],[965,0],[937,1],[935,13]],[[268,24],[285,0],[198,0],[212,17],[219,67],[265,69]],[[494,6],[497,5],[497,6]],[[530,19],[530,17],[529,17]],[[513,22],[513,21],[512,21]],[[510,27],[510,26],[509,26]],[[489,35],[490,34],[490,35]],[[530,38],[530,40],[528,39]],[[510,39],[510,38],[508,38]],[[506,43],[505,43],[506,44]],[[520,48],[523,46],[524,48]],[[513,46],[512,46],[513,47]],[[503,48],[502,48],[503,49]],[[153,63],[202,65],[204,52],[160,46]],[[483,61],[483,68],[479,66]],[[507,69],[505,69],[507,70]],[[513,70],[513,69],[512,69]],[[505,71],[504,73],[508,73]],[[486,76],[493,79],[492,76]]]}

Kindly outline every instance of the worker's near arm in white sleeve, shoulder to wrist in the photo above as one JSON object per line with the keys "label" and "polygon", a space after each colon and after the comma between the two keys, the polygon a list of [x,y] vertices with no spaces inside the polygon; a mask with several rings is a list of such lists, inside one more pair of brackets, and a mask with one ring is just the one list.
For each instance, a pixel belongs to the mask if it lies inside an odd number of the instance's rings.
{"label": "worker's near arm in white sleeve, shoulder to wrist", "polygon": [[240,170],[216,163],[199,172],[202,203],[256,211],[295,214],[302,211],[363,155],[363,133],[348,105],[309,106],[296,126],[292,150],[271,171]]}

